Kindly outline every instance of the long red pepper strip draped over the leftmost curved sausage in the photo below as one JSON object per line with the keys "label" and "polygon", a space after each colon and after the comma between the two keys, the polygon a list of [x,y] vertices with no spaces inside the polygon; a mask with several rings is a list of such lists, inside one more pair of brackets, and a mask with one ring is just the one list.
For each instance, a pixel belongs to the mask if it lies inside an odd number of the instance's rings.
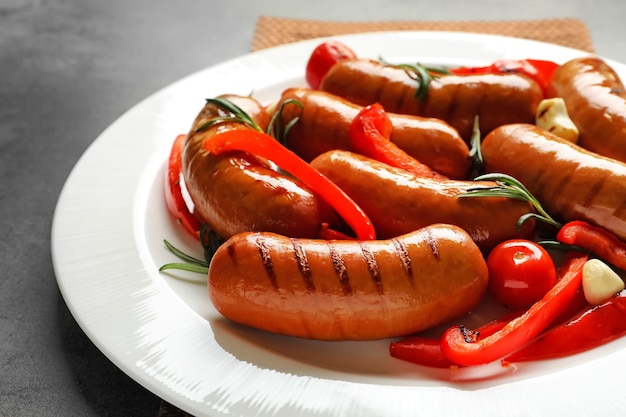
{"label": "long red pepper strip draped over the leftmost curved sausage", "polygon": [[204,148],[213,154],[243,151],[274,162],[334,208],[352,228],[357,239],[376,239],[374,226],[367,214],[343,190],[270,135],[256,130],[230,130],[206,140]]}

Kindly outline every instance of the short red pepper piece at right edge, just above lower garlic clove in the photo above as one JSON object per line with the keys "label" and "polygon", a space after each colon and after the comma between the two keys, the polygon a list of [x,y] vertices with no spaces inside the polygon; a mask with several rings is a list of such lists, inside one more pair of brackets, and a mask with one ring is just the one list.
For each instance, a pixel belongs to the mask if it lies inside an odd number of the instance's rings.
{"label": "short red pepper piece at right edge, just above lower garlic clove", "polygon": [[574,220],[559,229],[556,240],[588,250],[613,266],[626,269],[626,243],[602,227]]}

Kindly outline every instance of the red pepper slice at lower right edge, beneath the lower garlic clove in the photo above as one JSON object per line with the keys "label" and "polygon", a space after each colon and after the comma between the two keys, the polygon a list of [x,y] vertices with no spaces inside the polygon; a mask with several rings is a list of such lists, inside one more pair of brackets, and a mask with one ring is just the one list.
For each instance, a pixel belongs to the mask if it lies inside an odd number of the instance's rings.
{"label": "red pepper slice at lower right edge, beneath the lower garlic clove", "polygon": [[626,296],[589,307],[529,345],[507,356],[504,362],[559,358],[584,352],[626,335]]}

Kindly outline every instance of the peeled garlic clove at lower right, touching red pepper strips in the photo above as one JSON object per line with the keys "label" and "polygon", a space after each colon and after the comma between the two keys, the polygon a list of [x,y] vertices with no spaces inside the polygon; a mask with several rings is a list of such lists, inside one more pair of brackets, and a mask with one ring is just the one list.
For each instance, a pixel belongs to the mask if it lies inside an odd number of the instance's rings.
{"label": "peeled garlic clove at lower right, touching red pepper strips", "polygon": [[583,293],[589,304],[602,304],[623,289],[622,278],[601,260],[590,259],[583,266]]}

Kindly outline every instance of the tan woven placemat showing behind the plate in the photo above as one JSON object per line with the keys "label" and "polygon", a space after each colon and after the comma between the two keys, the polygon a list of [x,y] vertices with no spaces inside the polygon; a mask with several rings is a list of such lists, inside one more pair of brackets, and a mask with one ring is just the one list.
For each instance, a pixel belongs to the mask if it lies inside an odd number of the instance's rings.
{"label": "tan woven placemat showing behind the plate", "polygon": [[514,36],[594,52],[587,25],[579,19],[497,21],[373,21],[333,22],[261,16],[257,21],[252,50],[289,42],[350,33],[397,30],[471,32]]}

